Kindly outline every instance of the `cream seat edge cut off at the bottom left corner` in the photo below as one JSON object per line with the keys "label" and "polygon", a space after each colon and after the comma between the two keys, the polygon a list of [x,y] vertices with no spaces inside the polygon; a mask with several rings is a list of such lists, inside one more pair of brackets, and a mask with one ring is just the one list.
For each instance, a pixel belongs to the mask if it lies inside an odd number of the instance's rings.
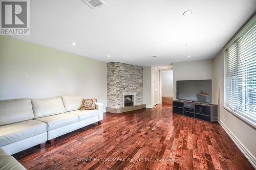
{"label": "cream seat edge cut off at the bottom left corner", "polygon": [[0,156],[0,169],[26,170],[26,168],[11,155]]}

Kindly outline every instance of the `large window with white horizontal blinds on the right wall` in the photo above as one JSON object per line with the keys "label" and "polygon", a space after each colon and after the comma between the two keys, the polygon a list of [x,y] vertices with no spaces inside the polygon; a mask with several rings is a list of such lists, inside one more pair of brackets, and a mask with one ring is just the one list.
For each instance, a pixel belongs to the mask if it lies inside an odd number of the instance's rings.
{"label": "large window with white horizontal blinds on the right wall", "polygon": [[256,122],[256,25],[226,50],[226,106]]}

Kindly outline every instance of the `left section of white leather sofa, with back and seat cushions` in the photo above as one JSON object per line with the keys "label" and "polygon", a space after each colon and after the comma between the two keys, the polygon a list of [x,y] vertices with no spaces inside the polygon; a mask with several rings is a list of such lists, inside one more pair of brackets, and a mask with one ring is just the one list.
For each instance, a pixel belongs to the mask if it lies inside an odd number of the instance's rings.
{"label": "left section of white leather sofa, with back and seat cushions", "polygon": [[0,148],[11,155],[47,141],[47,125],[33,118],[30,99],[0,101]]}

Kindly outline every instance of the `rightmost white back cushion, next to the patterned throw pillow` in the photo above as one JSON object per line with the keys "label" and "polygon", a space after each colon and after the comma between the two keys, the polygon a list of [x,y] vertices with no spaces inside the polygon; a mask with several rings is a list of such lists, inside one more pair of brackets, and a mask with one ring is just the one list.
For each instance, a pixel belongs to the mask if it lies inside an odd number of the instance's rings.
{"label": "rightmost white back cushion, next to the patterned throw pillow", "polygon": [[66,112],[78,110],[82,106],[81,95],[63,95],[61,96]]}

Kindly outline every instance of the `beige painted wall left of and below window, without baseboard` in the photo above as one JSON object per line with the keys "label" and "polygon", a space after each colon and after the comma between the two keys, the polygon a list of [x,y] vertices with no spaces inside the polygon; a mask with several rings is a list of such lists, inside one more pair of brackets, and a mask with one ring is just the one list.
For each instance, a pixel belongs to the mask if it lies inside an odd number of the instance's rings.
{"label": "beige painted wall left of and below window, without baseboard", "polygon": [[256,157],[256,130],[240,118],[223,108],[224,106],[224,51],[214,58],[214,96],[218,104],[218,117],[223,124],[244,145],[246,150]]}

